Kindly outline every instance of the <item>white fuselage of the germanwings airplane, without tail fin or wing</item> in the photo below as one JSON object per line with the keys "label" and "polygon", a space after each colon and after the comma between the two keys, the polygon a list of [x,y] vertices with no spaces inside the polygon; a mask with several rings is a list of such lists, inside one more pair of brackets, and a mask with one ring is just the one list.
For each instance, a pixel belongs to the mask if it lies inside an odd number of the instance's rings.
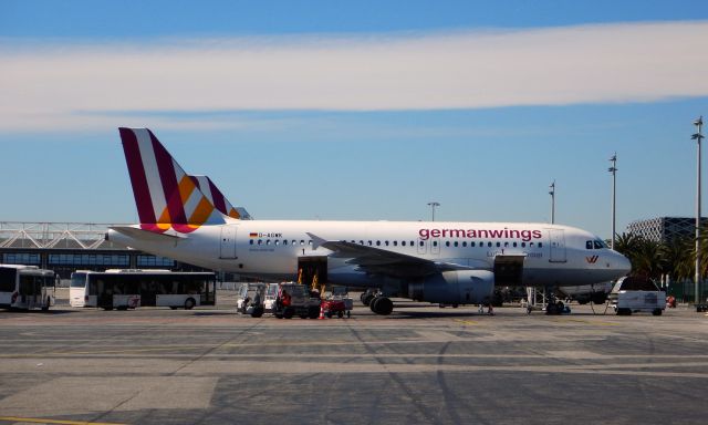
{"label": "white fuselage of the germanwings airplane, without tail fin or wing", "polygon": [[[135,226],[139,228],[139,226]],[[523,256],[523,286],[576,286],[626,274],[629,261],[597,237],[568,226],[512,222],[229,220],[179,237],[134,238],[110,230],[119,245],[214,270],[263,280],[294,280],[302,257],[324,257],[313,235],[440,263],[493,270],[497,257]],[[590,243],[589,243],[590,242]],[[375,287],[382,277],[347,258],[329,259],[329,282]]]}

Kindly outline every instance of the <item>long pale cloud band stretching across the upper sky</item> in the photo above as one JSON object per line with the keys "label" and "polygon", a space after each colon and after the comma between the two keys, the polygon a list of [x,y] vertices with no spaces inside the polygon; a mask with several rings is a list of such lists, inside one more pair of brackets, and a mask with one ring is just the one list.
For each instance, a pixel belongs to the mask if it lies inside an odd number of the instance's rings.
{"label": "long pale cloud band stretching across the upper sky", "polygon": [[[705,40],[706,21],[147,44],[2,40],[0,131],[156,120],[169,127],[229,126],[235,124],[218,112],[239,110],[485,108],[705,96]],[[217,113],[185,122],[136,111]]]}

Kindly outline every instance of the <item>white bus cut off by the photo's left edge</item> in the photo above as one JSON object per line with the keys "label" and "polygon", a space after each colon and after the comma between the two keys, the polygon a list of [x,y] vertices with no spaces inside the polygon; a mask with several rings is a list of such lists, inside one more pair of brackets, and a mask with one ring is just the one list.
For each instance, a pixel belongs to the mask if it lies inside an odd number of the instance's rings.
{"label": "white bus cut off by the photo's left edge", "polygon": [[0,265],[0,309],[49,310],[54,305],[56,273],[37,266]]}

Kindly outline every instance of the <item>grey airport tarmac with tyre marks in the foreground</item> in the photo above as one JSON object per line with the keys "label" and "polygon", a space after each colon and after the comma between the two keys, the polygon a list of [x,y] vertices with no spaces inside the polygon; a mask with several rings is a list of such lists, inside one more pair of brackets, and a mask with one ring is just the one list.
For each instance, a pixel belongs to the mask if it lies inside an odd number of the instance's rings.
{"label": "grey airport tarmac with tyre marks in the foreground", "polygon": [[[0,311],[0,424],[705,424],[708,317]],[[603,310],[595,308],[595,310]],[[610,313],[610,311],[608,311]]]}

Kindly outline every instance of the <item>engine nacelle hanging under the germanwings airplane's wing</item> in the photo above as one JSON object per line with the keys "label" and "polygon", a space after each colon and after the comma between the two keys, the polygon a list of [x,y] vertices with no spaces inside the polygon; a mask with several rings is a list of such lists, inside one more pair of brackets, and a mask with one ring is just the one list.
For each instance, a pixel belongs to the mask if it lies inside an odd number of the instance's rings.
{"label": "engine nacelle hanging under the germanwings airplane's wing", "polygon": [[494,292],[494,273],[489,270],[456,270],[408,283],[408,296],[441,304],[481,304]]}

